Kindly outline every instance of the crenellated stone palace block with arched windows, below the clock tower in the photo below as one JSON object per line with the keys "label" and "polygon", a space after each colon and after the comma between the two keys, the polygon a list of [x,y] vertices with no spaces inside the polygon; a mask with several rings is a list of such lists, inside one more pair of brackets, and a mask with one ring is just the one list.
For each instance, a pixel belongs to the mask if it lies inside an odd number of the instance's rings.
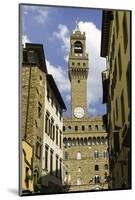
{"label": "crenellated stone palace block with arched windows, below the clock tower", "polygon": [[108,189],[108,139],[101,117],[64,119],[64,181],[70,191]]}

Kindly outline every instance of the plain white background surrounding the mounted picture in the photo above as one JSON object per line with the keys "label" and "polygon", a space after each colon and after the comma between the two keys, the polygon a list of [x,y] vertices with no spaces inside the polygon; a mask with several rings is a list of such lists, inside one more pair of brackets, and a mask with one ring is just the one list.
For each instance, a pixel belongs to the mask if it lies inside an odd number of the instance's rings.
{"label": "plain white background surrounding the mounted picture", "polygon": [[[4,0],[0,6],[0,198],[15,200],[20,197],[17,195],[18,190],[18,4],[19,3],[38,3],[48,5],[68,5],[79,7],[95,7],[95,8],[121,8],[133,10],[133,25],[135,24],[135,11],[130,0]],[[133,33],[135,29],[133,26]],[[132,39],[132,44],[135,44],[135,37]],[[134,55],[134,46],[133,46]],[[135,66],[134,56],[132,55],[132,65]],[[132,75],[134,75],[134,67],[132,67]],[[133,76],[133,85],[134,85]],[[134,88],[134,86],[133,86]],[[132,93],[135,100],[135,92]],[[132,108],[132,119],[135,119],[134,110]],[[134,138],[134,124],[133,136]],[[134,142],[133,142],[133,166],[134,165]],[[133,167],[134,169],[134,167]],[[134,188],[134,170],[133,170],[133,188]],[[135,190],[130,191],[114,191],[114,192],[95,192],[95,193],[77,193],[68,195],[50,195],[50,196],[34,196],[23,197],[29,199],[82,199],[82,198],[97,198],[97,199],[128,199],[133,197]]]}

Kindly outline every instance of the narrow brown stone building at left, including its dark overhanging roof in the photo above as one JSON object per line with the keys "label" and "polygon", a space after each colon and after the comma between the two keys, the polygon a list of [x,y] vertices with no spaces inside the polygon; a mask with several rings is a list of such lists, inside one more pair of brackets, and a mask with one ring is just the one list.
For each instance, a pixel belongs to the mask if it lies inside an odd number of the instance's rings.
{"label": "narrow brown stone building at left, including its dark overhanging roof", "polygon": [[[43,46],[26,44],[21,68],[21,136],[33,147],[34,191],[40,189],[44,122],[45,73]],[[24,149],[25,150],[25,149]],[[26,152],[29,154],[29,152]]]}

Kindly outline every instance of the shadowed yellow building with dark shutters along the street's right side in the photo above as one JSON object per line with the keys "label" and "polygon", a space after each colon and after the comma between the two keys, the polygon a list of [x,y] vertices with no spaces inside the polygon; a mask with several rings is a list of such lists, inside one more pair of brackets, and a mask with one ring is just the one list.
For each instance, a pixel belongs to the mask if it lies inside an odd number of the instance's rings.
{"label": "shadowed yellow building with dark shutters along the street's right side", "polygon": [[107,69],[102,73],[104,122],[109,132],[111,189],[131,187],[131,12],[103,11],[101,56]]}

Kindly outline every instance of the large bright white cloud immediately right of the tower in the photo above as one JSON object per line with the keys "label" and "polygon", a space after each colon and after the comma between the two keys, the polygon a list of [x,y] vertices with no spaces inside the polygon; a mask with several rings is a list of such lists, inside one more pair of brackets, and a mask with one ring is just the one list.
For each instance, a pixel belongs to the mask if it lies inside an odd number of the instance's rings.
{"label": "large bright white cloud immediately right of the tower", "polygon": [[102,103],[101,72],[105,70],[105,59],[100,57],[101,31],[92,22],[79,22],[86,33],[86,48],[89,54],[88,104]]}

